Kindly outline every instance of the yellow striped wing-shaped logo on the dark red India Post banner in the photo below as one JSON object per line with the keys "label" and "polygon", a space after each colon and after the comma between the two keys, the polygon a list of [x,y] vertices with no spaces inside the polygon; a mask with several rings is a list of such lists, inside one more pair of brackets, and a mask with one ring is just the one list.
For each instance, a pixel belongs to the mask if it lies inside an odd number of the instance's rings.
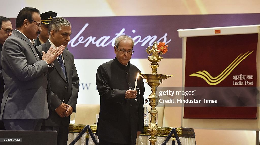
{"label": "yellow striped wing-shaped logo on the dark red India Post banner", "polygon": [[245,54],[240,54],[234,61],[230,63],[228,67],[225,68],[217,77],[212,77],[209,72],[207,71],[199,71],[189,76],[199,77],[204,79],[209,85],[215,86],[222,82],[247,56],[249,56],[253,51],[249,53],[246,52]]}

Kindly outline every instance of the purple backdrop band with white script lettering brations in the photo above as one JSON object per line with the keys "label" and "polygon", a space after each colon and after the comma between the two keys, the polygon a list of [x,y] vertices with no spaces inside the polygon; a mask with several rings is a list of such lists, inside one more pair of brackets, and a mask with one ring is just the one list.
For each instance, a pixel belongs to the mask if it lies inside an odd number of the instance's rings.
{"label": "purple backdrop band with white script lettering brations", "polygon": [[[260,14],[165,15],[67,17],[72,24],[69,51],[76,59],[114,58],[114,38],[127,34],[134,38],[132,58],[147,58],[145,49],[154,41],[166,42],[164,58],[182,58],[182,39],[177,29],[254,25]],[[13,27],[15,19],[12,19]]]}

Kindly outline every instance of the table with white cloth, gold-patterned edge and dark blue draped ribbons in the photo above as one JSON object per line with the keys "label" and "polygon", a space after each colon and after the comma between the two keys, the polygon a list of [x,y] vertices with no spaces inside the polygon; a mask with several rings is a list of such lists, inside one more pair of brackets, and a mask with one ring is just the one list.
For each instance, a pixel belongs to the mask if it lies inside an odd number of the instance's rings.
{"label": "table with white cloth, gold-patterned edge and dark blue draped ribbons", "polygon": [[[69,137],[68,143],[70,144],[74,138],[83,130],[86,125],[82,124],[70,124],[69,126]],[[97,125],[89,125],[92,132],[96,133]],[[165,138],[170,134],[172,128],[170,127],[158,127],[158,133],[156,135],[157,141],[156,145],[161,145]],[[195,133],[192,128],[176,128],[177,134],[179,136],[180,142],[182,145],[195,145]],[[95,145],[92,138],[90,137],[89,131],[86,130],[85,133],[81,136],[81,138],[75,143],[75,145],[86,145],[86,138],[88,145]],[[95,135],[96,140],[98,141],[98,137]],[[136,140],[136,145],[149,145],[150,142],[148,139],[150,138],[149,133],[147,132],[147,127],[144,127],[144,133],[141,133]],[[178,145],[174,134],[170,136],[170,139],[166,143],[166,145]]]}

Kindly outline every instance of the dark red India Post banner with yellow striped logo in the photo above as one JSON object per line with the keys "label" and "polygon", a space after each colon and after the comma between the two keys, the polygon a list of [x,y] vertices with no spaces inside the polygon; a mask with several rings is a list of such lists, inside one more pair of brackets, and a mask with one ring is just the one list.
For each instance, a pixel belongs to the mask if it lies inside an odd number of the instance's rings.
{"label": "dark red India Post banner with yellow striped logo", "polygon": [[[185,87],[256,87],[257,43],[258,34],[187,37]],[[256,106],[185,106],[184,118],[255,119],[256,111]]]}

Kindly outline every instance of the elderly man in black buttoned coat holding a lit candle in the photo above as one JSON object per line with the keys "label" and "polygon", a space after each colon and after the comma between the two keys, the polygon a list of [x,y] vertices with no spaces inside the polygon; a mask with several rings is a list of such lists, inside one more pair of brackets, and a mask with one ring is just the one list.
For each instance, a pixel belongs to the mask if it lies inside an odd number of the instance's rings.
{"label": "elderly man in black buttoned coat holding a lit candle", "polygon": [[[100,114],[96,135],[99,145],[119,145],[136,142],[144,130],[144,82],[138,78],[140,70],[130,64],[134,41],[127,35],[115,39],[116,58],[99,66],[96,75],[100,95]],[[131,88],[132,87],[132,88]]]}

